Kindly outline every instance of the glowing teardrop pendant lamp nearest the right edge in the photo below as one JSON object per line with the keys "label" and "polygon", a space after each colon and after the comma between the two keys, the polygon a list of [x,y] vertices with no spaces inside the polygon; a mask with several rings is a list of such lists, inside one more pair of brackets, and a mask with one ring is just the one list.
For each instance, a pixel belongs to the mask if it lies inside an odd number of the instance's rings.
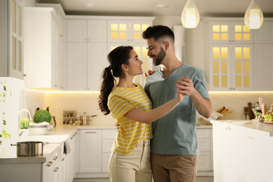
{"label": "glowing teardrop pendant lamp nearest the right edge", "polygon": [[262,10],[255,0],[251,0],[246,13],[244,14],[244,25],[246,25],[248,29],[260,29],[260,27],[262,27],[262,22]]}

